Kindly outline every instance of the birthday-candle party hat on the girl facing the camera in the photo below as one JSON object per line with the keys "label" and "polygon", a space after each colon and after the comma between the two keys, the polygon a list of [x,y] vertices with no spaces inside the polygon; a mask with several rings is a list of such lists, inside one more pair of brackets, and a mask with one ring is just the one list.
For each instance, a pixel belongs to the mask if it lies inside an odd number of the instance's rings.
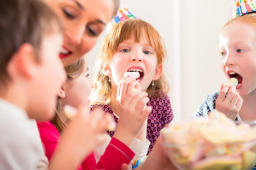
{"label": "birthday-candle party hat on the girl facing the camera", "polygon": [[117,15],[111,19],[111,21],[106,26],[107,34],[117,25],[119,22],[124,21],[129,18],[139,18],[132,11],[126,8],[123,4],[120,3]]}

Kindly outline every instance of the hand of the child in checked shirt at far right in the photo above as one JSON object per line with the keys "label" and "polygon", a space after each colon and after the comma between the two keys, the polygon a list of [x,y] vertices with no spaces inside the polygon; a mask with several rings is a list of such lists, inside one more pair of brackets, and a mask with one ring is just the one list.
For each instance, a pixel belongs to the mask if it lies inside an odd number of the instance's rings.
{"label": "hand of the child in checked shirt at far right", "polygon": [[[227,95],[226,95],[227,94]],[[236,119],[241,109],[243,99],[239,97],[234,85],[221,85],[219,96],[216,100],[216,109],[224,113],[229,119]]]}

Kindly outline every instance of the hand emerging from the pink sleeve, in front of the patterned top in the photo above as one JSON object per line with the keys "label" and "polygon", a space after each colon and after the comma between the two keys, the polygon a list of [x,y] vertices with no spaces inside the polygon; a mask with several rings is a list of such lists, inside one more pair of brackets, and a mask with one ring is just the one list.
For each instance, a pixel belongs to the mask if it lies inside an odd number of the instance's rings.
{"label": "hand emerging from the pink sleeve, in front of the patterned top", "polygon": [[122,102],[117,130],[113,137],[130,146],[152,110],[150,106],[144,110],[147,102],[149,102],[149,98],[146,92],[127,94],[126,99]]}

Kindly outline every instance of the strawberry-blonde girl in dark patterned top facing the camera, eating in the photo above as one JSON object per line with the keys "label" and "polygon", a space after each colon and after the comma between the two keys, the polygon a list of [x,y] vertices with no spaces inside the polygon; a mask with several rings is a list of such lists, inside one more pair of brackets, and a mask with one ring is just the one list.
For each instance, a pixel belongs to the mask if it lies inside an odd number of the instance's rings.
{"label": "strawberry-blonde girl in dark patterned top facing the camera, eating", "polygon": [[[120,108],[126,98],[134,95],[134,88],[147,92],[150,100],[146,105],[151,106],[152,111],[137,136],[145,143],[144,146],[150,143],[146,153],[151,151],[159,131],[173,119],[170,99],[166,95],[168,85],[162,73],[165,57],[162,38],[155,28],[141,19],[120,22],[112,28],[103,43],[90,98],[91,110],[100,107],[109,113],[115,119],[118,130],[120,115],[123,115]],[[137,71],[140,77],[137,80],[124,77],[128,71]],[[108,133],[115,136],[115,131]],[[135,144],[132,150],[142,155],[144,149],[139,145],[136,148]]]}

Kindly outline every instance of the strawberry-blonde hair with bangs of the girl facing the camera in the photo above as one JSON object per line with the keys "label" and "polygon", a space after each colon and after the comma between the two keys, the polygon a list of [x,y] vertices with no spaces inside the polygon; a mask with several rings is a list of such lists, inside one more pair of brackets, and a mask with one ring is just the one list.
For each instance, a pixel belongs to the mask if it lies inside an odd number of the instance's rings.
{"label": "strawberry-blonde hair with bangs of the girl facing the camera", "polygon": [[[146,37],[143,37],[146,35]],[[112,28],[110,33],[105,38],[101,53],[97,59],[96,77],[91,95],[91,105],[107,104],[111,97],[111,82],[108,81],[108,76],[104,75],[101,68],[104,68],[118,49],[121,42],[134,36],[135,42],[140,42],[141,38],[147,39],[149,44],[155,49],[157,56],[157,66],[163,64],[166,58],[166,49],[160,34],[153,26],[141,19],[127,19],[120,22]],[[169,86],[165,81],[164,73],[161,74],[158,80],[154,81],[154,86],[150,85],[146,92],[149,97],[155,96],[159,90],[168,92]],[[161,96],[157,96],[161,97]]]}

